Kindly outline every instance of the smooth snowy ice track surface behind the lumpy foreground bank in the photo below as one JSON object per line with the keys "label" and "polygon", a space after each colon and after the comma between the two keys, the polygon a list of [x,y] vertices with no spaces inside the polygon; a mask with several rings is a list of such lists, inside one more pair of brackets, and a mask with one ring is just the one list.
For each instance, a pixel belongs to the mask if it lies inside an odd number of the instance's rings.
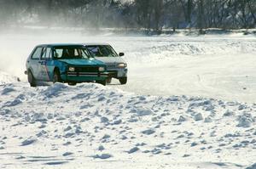
{"label": "smooth snowy ice track surface behind the lumpy foreground bank", "polygon": [[2,35],[0,68],[26,81],[27,55],[40,43],[108,42],[125,52],[129,81],[111,87],[150,95],[189,95],[254,102],[256,38],[239,34],[202,37],[93,37],[79,33]]}

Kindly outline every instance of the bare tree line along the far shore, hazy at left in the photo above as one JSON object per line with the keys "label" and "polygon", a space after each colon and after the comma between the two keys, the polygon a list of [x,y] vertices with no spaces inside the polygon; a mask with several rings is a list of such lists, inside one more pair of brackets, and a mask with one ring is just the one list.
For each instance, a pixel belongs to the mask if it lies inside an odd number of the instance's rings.
{"label": "bare tree line along the far shore, hazy at left", "polygon": [[247,29],[256,0],[0,0],[0,26]]}

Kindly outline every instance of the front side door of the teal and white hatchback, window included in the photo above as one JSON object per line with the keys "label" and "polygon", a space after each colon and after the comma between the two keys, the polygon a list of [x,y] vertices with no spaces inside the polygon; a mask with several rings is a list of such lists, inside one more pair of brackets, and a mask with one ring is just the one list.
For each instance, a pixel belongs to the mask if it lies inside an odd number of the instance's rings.
{"label": "front side door of the teal and white hatchback, window included", "polygon": [[52,70],[52,57],[51,48],[44,47],[41,55],[40,62],[40,80],[49,82],[50,81],[50,70]]}

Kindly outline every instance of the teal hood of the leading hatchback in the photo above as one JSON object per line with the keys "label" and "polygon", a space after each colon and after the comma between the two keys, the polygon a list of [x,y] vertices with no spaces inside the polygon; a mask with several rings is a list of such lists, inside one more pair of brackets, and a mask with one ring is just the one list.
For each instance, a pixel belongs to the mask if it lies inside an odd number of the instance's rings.
{"label": "teal hood of the leading hatchback", "polygon": [[96,59],[59,59],[68,65],[104,65],[102,61]]}

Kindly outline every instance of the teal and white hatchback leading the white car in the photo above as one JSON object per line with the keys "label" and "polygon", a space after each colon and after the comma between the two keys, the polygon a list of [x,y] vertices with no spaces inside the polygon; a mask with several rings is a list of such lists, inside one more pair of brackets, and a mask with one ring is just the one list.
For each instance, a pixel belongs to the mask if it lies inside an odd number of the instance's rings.
{"label": "teal and white hatchback leading the white car", "polygon": [[26,60],[28,82],[97,82],[106,85],[106,65],[94,59],[80,44],[44,44],[32,50]]}

